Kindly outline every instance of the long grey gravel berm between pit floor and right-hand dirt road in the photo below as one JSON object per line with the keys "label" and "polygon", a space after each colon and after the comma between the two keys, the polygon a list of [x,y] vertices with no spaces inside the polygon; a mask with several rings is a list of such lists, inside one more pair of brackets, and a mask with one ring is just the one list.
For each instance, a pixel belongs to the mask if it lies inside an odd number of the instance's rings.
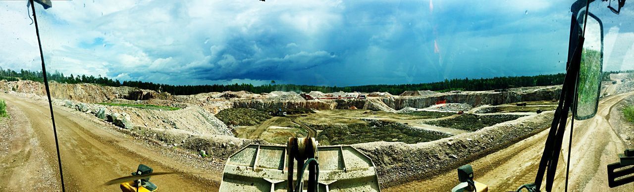
{"label": "long grey gravel berm between pit floor and right-hand dirt road", "polygon": [[425,143],[373,142],[353,146],[372,158],[381,186],[387,188],[440,174],[505,148],[549,127],[552,116],[552,112],[545,112]]}

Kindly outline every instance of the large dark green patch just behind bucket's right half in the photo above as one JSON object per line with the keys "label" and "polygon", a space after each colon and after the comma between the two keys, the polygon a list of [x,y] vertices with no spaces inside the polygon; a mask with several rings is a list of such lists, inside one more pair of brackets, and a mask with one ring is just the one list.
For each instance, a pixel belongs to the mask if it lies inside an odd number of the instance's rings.
{"label": "large dark green patch just behind bucket's right half", "polygon": [[366,120],[364,124],[325,125],[317,140],[323,145],[399,141],[420,143],[448,138],[451,135],[437,131],[415,129],[408,125],[382,120]]}

